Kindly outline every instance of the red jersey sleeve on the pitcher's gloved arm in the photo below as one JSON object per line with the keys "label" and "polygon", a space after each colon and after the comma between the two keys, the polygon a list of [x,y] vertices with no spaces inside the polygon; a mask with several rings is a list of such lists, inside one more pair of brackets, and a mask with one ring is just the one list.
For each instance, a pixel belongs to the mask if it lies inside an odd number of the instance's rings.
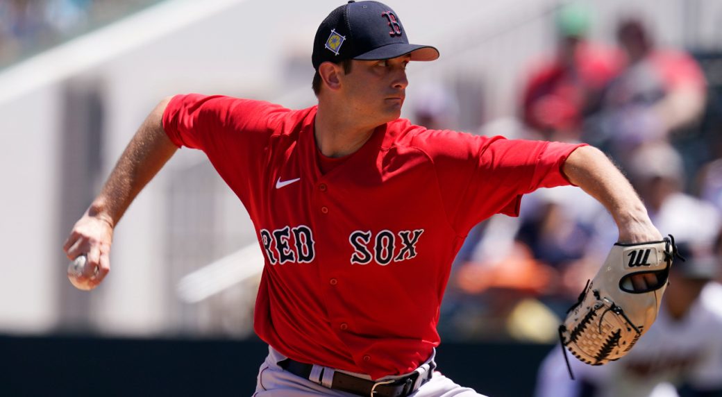
{"label": "red jersey sleeve on the pitcher's gloved arm", "polygon": [[562,165],[583,144],[509,140],[429,131],[432,156],[451,225],[460,235],[494,214],[516,217],[521,196],[571,183]]}

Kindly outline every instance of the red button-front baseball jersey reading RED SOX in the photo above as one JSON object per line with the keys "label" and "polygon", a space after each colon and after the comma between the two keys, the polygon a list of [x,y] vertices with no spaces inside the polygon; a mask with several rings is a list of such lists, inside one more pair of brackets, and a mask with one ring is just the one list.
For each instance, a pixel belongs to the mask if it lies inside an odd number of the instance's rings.
{"label": "red button-front baseball jersey reading RED SOX", "polygon": [[[300,362],[377,379],[439,344],[451,262],[467,232],[567,185],[578,145],[427,130],[398,119],[322,173],[316,106],[178,95],[173,142],[202,149],[251,214],[266,258],[254,328]],[[242,266],[239,263],[239,266]]]}

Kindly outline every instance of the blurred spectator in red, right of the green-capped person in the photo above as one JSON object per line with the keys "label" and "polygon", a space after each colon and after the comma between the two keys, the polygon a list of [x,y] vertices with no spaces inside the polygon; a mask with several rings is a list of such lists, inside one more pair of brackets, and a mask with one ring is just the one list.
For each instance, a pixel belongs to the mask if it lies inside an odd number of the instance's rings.
{"label": "blurred spectator in red, right of the green-capped person", "polygon": [[684,51],[656,48],[639,19],[622,20],[617,40],[627,66],[606,88],[584,139],[626,167],[640,144],[665,141],[671,131],[697,120],[705,105],[705,78]]}

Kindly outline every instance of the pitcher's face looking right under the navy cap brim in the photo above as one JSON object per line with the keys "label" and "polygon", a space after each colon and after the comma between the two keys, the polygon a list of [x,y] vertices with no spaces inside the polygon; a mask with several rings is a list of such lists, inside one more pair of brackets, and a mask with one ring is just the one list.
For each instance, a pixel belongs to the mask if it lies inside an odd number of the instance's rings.
{"label": "pitcher's face looking right under the navy cap brim", "polygon": [[374,126],[396,120],[406,99],[406,64],[411,56],[383,61],[352,61],[342,75],[342,100],[352,110],[349,117],[362,118]]}

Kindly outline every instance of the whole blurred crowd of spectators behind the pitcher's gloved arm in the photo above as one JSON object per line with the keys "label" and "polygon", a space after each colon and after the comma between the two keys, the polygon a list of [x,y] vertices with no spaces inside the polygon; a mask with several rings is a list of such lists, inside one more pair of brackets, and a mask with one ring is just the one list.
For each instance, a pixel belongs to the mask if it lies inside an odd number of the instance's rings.
{"label": "whole blurred crowd of spectators behind the pitcher's gloved arm", "polygon": [[[703,69],[703,54],[658,43],[641,15],[617,20],[609,43],[588,38],[593,17],[583,4],[560,7],[554,22],[557,48],[521,77],[517,128],[500,133],[604,150],[687,261],[675,265],[660,320],[628,357],[603,368],[571,357],[574,382],[554,348],[539,369],[536,396],[720,396],[718,69]],[[417,104],[417,123],[448,123],[452,110],[443,95]],[[467,237],[442,310],[443,336],[554,341],[580,287],[615,241],[609,214],[579,189],[531,193],[520,217],[497,215]]]}

